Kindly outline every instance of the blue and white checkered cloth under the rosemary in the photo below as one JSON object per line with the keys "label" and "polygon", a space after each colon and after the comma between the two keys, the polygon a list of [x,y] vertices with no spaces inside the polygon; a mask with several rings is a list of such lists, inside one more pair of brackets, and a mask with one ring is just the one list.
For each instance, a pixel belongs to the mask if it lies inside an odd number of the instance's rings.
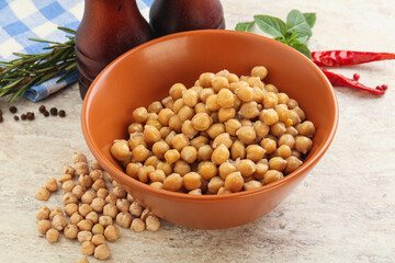
{"label": "blue and white checkered cloth under the rosemary", "polygon": [[[113,1],[113,0],[109,0]],[[154,0],[137,0],[143,15],[147,16]],[[65,42],[64,26],[77,30],[82,19],[83,0],[0,0],[0,61],[16,58],[12,53],[43,53],[45,43],[29,41],[29,37]],[[53,78],[30,88],[24,96],[36,102],[76,82],[77,72],[57,82]]]}

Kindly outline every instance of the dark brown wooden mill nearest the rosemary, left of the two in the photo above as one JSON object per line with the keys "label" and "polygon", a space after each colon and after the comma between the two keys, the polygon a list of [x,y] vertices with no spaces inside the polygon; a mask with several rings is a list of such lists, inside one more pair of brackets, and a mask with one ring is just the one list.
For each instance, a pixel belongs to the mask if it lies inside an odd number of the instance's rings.
{"label": "dark brown wooden mill nearest the rosemary, left of the two", "polygon": [[136,0],[84,0],[82,21],[76,33],[81,98],[106,65],[151,38],[153,31]]}

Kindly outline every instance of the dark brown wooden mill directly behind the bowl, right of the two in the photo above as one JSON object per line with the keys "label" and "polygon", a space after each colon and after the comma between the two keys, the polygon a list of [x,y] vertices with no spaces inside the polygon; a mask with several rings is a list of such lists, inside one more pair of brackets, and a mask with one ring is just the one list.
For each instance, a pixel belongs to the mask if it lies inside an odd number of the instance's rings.
{"label": "dark brown wooden mill directly behind the bowl, right of the two", "polygon": [[155,0],[149,23],[157,36],[192,30],[224,30],[219,0]]}

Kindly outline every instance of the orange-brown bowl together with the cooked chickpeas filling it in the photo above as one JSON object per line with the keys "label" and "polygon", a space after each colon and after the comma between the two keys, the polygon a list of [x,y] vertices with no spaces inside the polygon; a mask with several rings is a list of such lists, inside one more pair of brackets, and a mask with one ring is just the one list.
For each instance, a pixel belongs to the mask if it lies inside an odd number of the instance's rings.
{"label": "orange-brown bowl together with the cooked chickpeas filling it", "polygon": [[334,139],[332,87],[304,55],[234,31],[177,33],[110,64],[83,102],[101,167],[153,214],[223,229],[276,207]]}

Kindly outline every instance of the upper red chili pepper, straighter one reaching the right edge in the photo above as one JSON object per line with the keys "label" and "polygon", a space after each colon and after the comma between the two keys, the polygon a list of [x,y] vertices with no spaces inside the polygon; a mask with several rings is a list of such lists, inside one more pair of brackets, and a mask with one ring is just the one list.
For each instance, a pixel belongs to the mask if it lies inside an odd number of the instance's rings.
{"label": "upper red chili pepper, straighter one reaching the right edge", "polygon": [[328,50],[312,53],[313,62],[315,62],[319,67],[341,67],[385,59],[395,59],[395,54],[348,50]]}

